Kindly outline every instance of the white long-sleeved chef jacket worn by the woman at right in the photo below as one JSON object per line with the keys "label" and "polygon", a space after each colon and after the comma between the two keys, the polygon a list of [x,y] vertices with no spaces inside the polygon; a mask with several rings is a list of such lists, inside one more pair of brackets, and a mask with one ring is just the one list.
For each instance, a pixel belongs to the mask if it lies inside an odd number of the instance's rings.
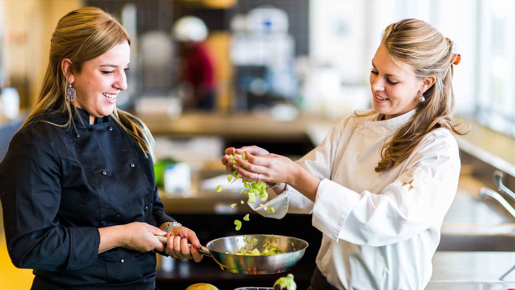
{"label": "white long-sleeved chef jacket worn by the woman at right", "polygon": [[345,117],[297,161],[322,179],[315,202],[287,185],[265,204],[275,213],[254,209],[273,218],[312,213],[323,233],[316,264],[338,289],[423,289],[431,278],[458,185],[456,140],[448,129],[436,129],[399,166],[374,171],[381,146],[415,113],[385,121],[376,121],[378,113]]}

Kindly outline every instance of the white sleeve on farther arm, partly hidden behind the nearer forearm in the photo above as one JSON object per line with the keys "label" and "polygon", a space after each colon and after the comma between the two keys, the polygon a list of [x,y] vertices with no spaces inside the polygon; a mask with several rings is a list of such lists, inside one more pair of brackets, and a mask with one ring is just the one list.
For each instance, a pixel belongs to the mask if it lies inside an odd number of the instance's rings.
{"label": "white sleeve on farther arm, partly hidden behind the nearer forearm", "polygon": [[[308,152],[304,157],[296,161],[311,174],[320,179],[331,178],[331,172],[336,156],[336,151],[342,134],[342,127],[347,118],[331,128],[324,140],[316,148]],[[275,195],[268,189],[269,195]],[[314,203],[302,195],[293,187],[286,184],[286,189],[277,197],[265,203],[267,207],[273,207],[275,212],[269,213],[262,207],[254,208],[257,213],[272,218],[283,218],[286,213],[311,214]]]}

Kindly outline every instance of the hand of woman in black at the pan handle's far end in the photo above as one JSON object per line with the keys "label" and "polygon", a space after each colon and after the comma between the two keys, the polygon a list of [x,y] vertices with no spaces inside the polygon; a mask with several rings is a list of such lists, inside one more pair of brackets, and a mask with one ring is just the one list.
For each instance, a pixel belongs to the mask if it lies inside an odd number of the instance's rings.
{"label": "hand of woman in black at the pan handle's far end", "polygon": [[163,245],[155,235],[164,236],[166,232],[163,232],[158,227],[137,221],[122,225],[121,227],[121,247],[139,252],[148,252],[151,250],[165,251],[165,245]]}

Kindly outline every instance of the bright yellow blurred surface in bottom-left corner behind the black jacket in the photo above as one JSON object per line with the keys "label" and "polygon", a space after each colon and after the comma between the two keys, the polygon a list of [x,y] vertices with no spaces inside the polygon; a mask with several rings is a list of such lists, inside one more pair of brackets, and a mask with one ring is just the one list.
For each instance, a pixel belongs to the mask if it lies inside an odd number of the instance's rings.
{"label": "bright yellow blurred surface in bottom-left corner behind the black jacket", "polygon": [[33,279],[31,269],[18,269],[11,263],[5,244],[4,223],[0,209],[0,289],[28,290]]}

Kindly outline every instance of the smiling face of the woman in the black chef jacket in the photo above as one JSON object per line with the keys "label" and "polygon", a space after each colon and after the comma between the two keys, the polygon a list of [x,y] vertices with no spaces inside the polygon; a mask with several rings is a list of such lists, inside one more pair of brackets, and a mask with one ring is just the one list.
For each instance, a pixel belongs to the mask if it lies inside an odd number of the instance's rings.
{"label": "smiling face of the woman in the black chef jacket", "polygon": [[73,104],[90,114],[90,124],[93,124],[95,117],[113,112],[116,96],[127,89],[125,71],[128,70],[129,60],[129,43],[123,42],[105,54],[84,62],[79,73],[69,76],[68,81],[77,91]]}

